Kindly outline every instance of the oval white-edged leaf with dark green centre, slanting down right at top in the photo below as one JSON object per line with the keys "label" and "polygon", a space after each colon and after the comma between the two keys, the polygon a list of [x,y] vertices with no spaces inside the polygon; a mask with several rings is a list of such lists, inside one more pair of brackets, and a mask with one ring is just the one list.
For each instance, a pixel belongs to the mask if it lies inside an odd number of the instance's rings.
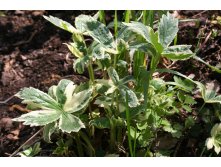
{"label": "oval white-edged leaf with dark green centre, slanting down right at top", "polygon": [[82,33],[90,35],[95,41],[107,48],[115,48],[111,32],[101,22],[91,16],[80,15],[75,20],[75,26]]}

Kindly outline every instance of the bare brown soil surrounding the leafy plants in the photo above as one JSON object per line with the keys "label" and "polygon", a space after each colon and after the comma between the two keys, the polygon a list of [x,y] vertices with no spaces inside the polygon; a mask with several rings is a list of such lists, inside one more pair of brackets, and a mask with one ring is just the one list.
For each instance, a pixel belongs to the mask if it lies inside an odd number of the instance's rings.
{"label": "bare brown soil surrounding the leafy plants", "polygon": [[[87,78],[87,74],[74,73],[74,59],[63,44],[71,40],[71,34],[42,17],[53,15],[73,23],[79,14],[82,11],[6,11],[5,16],[0,16],[0,156],[10,156],[39,130],[11,121],[27,112],[13,95],[30,86],[47,91],[62,78],[77,84]],[[193,45],[194,50],[199,42],[197,55],[214,66],[221,60],[221,24],[216,21],[220,14],[220,11],[175,12],[179,18],[197,19],[180,23],[178,44]],[[177,62],[172,68],[186,75],[194,74],[200,81],[216,81],[218,85],[221,82],[218,73],[193,59]],[[40,137],[31,142],[38,140]]]}

